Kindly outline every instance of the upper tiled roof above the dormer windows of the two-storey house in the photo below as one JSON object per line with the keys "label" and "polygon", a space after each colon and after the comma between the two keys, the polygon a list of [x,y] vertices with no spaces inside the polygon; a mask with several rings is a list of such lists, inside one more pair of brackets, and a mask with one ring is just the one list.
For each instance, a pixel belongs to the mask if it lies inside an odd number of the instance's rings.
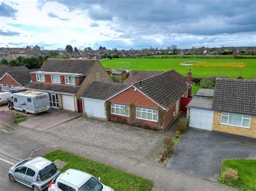
{"label": "upper tiled roof above the dormer windows of the two-storey house", "polygon": [[40,71],[87,74],[96,62],[98,60],[48,59]]}

